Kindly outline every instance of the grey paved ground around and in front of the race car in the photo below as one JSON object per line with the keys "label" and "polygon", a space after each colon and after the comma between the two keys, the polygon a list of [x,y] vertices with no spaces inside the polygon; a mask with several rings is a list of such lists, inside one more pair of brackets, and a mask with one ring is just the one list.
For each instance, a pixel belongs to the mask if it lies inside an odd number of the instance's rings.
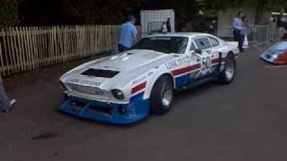
{"label": "grey paved ground around and in front of the race car", "polygon": [[60,114],[57,80],[30,83],[0,114],[0,160],[285,161],[287,67],[268,66],[258,52],[241,55],[232,84],[182,92],[170,114],[130,126]]}

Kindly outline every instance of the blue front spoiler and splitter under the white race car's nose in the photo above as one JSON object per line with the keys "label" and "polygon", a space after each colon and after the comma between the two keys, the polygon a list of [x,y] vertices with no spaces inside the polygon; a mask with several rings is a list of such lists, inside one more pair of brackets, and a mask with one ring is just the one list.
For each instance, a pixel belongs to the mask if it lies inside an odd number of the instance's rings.
{"label": "blue front spoiler and splitter under the white race car's nose", "polygon": [[150,110],[150,101],[143,100],[143,93],[130,99],[129,104],[114,104],[88,100],[80,97],[68,97],[59,110],[94,121],[108,123],[135,123],[143,120]]}

